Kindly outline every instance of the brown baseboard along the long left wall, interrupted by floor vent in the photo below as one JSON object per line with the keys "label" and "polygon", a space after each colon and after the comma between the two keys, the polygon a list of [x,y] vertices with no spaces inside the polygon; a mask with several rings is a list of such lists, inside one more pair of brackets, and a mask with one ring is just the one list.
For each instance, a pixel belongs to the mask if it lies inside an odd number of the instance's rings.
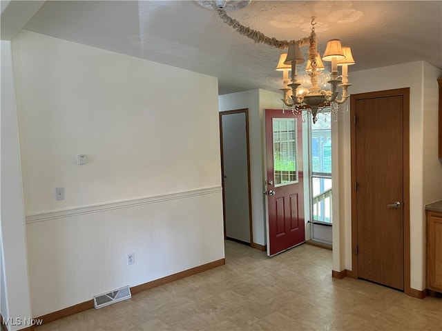
{"label": "brown baseboard along the long left wall, interrupted by floor vent", "polygon": [[[207,271],[216,267],[219,267],[220,265],[226,264],[226,259],[219,259],[213,262],[209,262],[203,265],[198,265],[198,267],[191,268],[188,270],[184,270],[182,272],[177,272],[176,274],[171,274],[170,276],[166,276],[160,279],[156,279],[155,281],[149,281],[148,283],[144,283],[141,285],[136,285],[131,287],[131,293],[137,294],[144,290],[149,290],[151,288],[156,288],[157,286],[164,285],[166,283],[171,283],[172,281],[177,281],[179,279],[183,279],[189,276],[192,276],[193,274],[198,274],[203,271]],[[56,312],[50,312],[49,314],[37,317],[36,319],[41,319],[43,322],[41,324],[50,323],[53,321],[57,321],[57,319],[63,319],[64,317],[68,317],[73,314],[77,314],[78,312],[84,312],[84,310],[88,310],[94,308],[94,301],[89,300],[85,301],[83,303],[78,303],[77,305],[72,305],[68,308],[64,308],[61,310],[57,310]],[[3,322],[3,319],[1,320]],[[3,325],[2,325],[3,328]],[[27,330],[28,329],[23,329]],[[29,331],[33,331],[34,328],[29,329]],[[8,331],[3,329],[3,331]]]}

